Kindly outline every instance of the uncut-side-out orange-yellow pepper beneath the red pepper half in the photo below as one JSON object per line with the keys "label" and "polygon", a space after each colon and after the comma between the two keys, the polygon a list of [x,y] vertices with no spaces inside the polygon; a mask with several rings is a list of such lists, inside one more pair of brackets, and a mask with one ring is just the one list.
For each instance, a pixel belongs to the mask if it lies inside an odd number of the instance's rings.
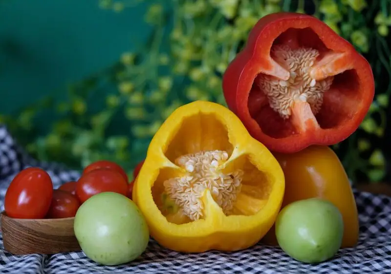
{"label": "uncut-side-out orange-yellow pepper beneath the red pepper half", "polygon": [[[327,146],[311,146],[297,153],[273,153],[285,175],[282,208],[292,202],[319,197],[333,203],[344,221],[342,248],[357,244],[359,220],[349,179],[335,152]],[[262,239],[277,245],[274,226]]]}

